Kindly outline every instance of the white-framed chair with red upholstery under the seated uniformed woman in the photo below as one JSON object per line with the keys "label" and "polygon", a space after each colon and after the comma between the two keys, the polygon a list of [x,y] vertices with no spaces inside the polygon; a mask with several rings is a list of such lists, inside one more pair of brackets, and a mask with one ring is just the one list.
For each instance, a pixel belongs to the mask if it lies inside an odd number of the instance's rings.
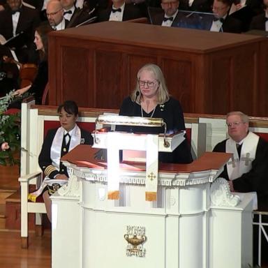
{"label": "white-framed chair with red upholstery under the seated uniformed woman", "polygon": [[[40,202],[30,202],[28,200],[29,191],[38,189],[43,181],[43,173],[38,165],[38,156],[43,144],[43,138],[50,128],[59,126],[57,107],[47,107],[47,114],[42,114],[39,108],[34,106],[34,101],[22,103],[22,135],[21,135],[21,170],[20,170],[20,193],[21,193],[21,240],[22,248],[29,246],[29,214],[35,214],[36,235],[43,234],[42,214],[46,214],[45,204]],[[45,106],[44,106],[45,107]],[[96,112],[80,117],[79,126],[92,131],[95,126]]]}

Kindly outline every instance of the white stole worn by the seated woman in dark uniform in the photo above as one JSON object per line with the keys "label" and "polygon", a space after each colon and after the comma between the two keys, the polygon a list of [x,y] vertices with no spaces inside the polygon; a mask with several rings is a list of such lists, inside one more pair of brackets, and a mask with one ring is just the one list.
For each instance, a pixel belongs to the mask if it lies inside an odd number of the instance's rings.
{"label": "white stole worn by the seated woman in dark uniform", "polygon": [[[52,165],[54,166],[54,168],[57,168],[57,170],[59,170],[59,162],[61,159],[61,146],[63,140],[64,140],[64,128],[60,127],[58,128],[54,136],[52,146],[50,149],[50,158],[52,160]],[[69,151],[77,147],[77,145],[80,144],[80,141],[81,141],[81,131],[80,128],[77,125],[75,125],[75,128],[73,128],[72,135],[70,137]]]}

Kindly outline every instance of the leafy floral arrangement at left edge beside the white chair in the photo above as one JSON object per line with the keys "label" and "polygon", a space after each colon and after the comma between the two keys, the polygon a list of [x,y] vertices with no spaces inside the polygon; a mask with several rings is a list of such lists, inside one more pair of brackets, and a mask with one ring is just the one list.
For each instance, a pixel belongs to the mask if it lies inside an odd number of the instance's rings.
{"label": "leafy floral arrangement at left edge beside the white chair", "polygon": [[8,105],[17,99],[10,91],[0,98],[0,145],[8,142],[10,149],[0,151],[0,165],[16,165],[20,163],[20,113],[7,114]]}

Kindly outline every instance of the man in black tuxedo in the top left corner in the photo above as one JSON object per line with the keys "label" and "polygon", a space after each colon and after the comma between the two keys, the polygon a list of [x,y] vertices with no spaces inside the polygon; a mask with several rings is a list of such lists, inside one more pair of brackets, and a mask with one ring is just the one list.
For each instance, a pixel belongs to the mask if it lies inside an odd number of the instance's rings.
{"label": "man in black tuxedo in the top left corner", "polygon": [[7,0],[8,6],[1,11],[0,34],[6,40],[23,32],[20,38],[12,44],[20,61],[29,60],[30,50],[34,49],[34,31],[40,23],[36,10],[22,5],[21,0]]}

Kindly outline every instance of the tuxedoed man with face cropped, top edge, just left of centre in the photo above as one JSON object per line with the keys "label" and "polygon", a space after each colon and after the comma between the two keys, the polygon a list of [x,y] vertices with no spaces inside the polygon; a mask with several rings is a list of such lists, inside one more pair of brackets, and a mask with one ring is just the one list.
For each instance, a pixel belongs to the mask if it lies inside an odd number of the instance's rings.
{"label": "tuxedoed man with face cropped, top edge, just left of centre", "polygon": [[125,0],[112,0],[112,6],[98,13],[98,21],[105,22],[107,20],[126,21],[134,20],[142,17],[142,13],[137,6],[132,3],[125,3]]}

